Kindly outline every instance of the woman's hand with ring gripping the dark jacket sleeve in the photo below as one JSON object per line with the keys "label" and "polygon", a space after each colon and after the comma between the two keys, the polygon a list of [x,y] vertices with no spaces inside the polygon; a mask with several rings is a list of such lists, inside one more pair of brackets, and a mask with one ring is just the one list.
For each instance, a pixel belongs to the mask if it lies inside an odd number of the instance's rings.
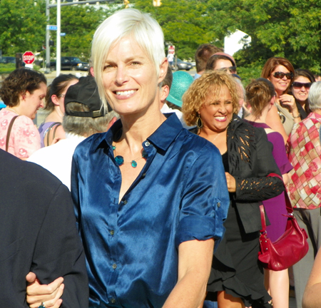
{"label": "woman's hand with ring gripping the dark jacket sleeve", "polygon": [[51,284],[40,284],[36,274],[29,272],[26,275],[26,301],[30,308],[36,308],[44,302],[46,308],[58,308],[62,303],[63,277],[57,278]]}

